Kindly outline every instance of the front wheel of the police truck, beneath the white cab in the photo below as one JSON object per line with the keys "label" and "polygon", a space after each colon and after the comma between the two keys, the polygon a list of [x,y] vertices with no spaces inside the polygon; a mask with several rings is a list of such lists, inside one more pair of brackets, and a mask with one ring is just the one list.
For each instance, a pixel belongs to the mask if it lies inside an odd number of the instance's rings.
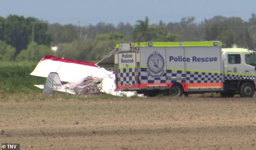
{"label": "front wheel of the police truck, beneath the white cab", "polygon": [[243,83],[239,88],[239,95],[240,97],[253,97],[255,92],[255,87],[249,83]]}

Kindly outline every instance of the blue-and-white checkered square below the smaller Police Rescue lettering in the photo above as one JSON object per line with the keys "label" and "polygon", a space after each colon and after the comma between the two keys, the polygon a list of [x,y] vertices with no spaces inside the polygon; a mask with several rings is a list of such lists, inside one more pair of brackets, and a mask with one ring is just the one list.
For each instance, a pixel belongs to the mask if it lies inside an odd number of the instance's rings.
{"label": "blue-and-white checkered square below the smaller Police Rescue lettering", "polygon": [[134,85],[136,82],[135,68],[120,69],[120,85]]}

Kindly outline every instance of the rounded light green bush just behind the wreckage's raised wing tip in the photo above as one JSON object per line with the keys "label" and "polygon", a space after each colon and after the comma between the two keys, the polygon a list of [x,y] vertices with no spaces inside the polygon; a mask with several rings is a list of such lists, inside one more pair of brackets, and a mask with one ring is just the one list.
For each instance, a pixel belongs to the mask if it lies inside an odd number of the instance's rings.
{"label": "rounded light green bush just behind the wreckage's raised wing tip", "polygon": [[41,60],[45,55],[54,54],[53,51],[50,50],[49,46],[46,45],[38,45],[36,42],[34,44],[31,42],[27,46],[27,49],[23,49],[19,55],[17,55],[17,61],[36,61]]}

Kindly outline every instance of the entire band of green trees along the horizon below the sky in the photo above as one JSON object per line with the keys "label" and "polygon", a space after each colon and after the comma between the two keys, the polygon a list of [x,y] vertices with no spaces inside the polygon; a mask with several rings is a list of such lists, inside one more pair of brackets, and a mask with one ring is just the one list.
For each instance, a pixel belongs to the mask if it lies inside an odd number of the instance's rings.
{"label": "entire band of green trees along the horizon below the sky", "polygon": [[[195,17],[180,22],[150,24],[149,18],[136,25],[117,26],[49,24],[37,18],[17,15],[0,16],[0,61],[38,61],[52,54],[74,60],[97,61],[116,43],[143,41],[222,41],[223,47],[256,47],[256,14],[248,21],[239,17],[214,16],[201,23]],[[57,46],[52,51],[51,46]]]}

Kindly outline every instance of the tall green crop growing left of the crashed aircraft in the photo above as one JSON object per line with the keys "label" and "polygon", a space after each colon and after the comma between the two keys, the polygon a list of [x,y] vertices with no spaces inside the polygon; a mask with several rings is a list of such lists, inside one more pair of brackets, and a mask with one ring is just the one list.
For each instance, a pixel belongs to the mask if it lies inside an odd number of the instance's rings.
{"label": "tall green crop growing left of the crashed aircraft", "polygon": [[0,98],[9,94],[41,92],[34,84],[43,84],[45,78],[29,75],[36,63],[1,63]]}

